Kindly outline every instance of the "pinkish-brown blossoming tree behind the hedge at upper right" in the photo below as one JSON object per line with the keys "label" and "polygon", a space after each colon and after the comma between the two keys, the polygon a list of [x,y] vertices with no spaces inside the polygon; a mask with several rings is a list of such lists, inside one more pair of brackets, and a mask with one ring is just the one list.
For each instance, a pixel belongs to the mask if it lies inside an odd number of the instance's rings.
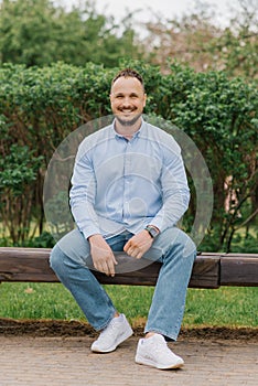
{"label": "pinkish-brown blossoming tree behind the hedge at upper right", "polygon": [[[214,23],[214,10],[198,6],[181,20],[158,18],[147,23],[146,57],[169,71],[168,62],[196,71],[226,71],[229,76],[258,77],[258,9],[256,0],[238,0],[229,25]],[[233,14],[234,14],[233,13]]]}

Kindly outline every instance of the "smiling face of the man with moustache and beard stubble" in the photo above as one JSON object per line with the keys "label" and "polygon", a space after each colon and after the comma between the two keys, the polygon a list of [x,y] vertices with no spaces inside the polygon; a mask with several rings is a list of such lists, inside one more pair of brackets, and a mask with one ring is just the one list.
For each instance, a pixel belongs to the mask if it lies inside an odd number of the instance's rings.
{"label": "smiling face of the man with moustache and beard stubble", "polygon": [[133,125],[146,106],[146,94],[136,77],[119,77],[111,87],[112,114],[122,126]]}

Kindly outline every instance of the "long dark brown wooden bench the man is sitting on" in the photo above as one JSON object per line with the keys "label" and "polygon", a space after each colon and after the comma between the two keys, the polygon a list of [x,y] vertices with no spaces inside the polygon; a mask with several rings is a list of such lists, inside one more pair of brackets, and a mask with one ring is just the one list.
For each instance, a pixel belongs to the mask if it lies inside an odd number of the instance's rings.
{"label": "long dark brown wooden bench the man is sitting on", "polygon": [[[50,251],[44,248],[0,247],[0,282],[58,282],[49,265]],[[115,278],[95,270],[93,274],[104,285],[154,286],[159,269],[160,264],[152,262],[133,271],[117,274]],[[258,254],[198,254],[189,287],[221,286],[257,287]]]}

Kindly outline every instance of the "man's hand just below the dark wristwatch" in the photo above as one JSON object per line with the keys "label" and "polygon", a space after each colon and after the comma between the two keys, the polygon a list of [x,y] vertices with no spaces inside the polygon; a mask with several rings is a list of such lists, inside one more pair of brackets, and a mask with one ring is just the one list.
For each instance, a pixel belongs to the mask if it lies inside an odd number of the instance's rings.
{"label": "man's hand just below the dark wristwatch", "polygon": [[123,247],[123,250],[131,257],[140,259],[148,249],[150,249],[153,238],[149,232],[143,229],[132,236]]}

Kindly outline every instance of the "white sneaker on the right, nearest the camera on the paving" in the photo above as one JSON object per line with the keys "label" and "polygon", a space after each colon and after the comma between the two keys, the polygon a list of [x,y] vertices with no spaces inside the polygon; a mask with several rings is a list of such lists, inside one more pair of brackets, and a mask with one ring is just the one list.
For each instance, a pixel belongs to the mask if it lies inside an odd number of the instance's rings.
{"label": "white sneaker on the right, nearest the camera on the paving", "polygon": [[162,335],[154,334],[147,339],[140,339],[137,347],[136,363],[168,369],[182,367],[184,361],[168,347]]}

